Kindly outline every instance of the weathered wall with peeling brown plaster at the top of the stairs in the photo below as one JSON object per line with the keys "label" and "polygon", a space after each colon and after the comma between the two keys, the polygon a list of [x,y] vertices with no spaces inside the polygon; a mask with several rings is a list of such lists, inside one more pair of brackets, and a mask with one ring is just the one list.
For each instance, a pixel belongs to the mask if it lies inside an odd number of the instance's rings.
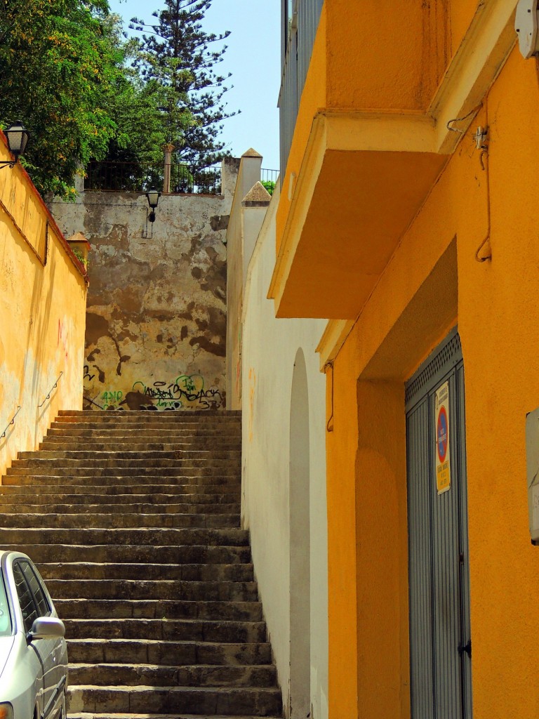
{"label": "weathered wall with peeling brown plaster at the top of the stairs", "polygon": [[225,407],[223,241],[237,167],[224,162],[223,196],[162,196],[153,227],[144,193],[52,203],[60,227],[92,248],[85,398],[104,408]]}

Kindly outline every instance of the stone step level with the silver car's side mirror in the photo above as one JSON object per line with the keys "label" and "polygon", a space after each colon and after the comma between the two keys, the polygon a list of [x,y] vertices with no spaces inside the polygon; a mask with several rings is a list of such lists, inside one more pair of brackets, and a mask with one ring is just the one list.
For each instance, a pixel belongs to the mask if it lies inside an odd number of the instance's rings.
{"label": "stone step level with the silver car's side mirror", "polygon": [[201,619],[65,619],[70,639],[147,639],[257,644],[266,641],[265,622]]}

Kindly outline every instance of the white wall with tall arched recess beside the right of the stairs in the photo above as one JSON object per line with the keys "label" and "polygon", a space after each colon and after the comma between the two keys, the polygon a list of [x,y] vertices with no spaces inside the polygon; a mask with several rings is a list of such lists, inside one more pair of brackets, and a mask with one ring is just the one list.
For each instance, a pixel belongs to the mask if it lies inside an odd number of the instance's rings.
{"label": "white wall with tall arched recess beside the right of the stairs", "polygon": [[[328,716],[328,567],[326,521],[326,400],[325,377],[319,371],[315,347],[326,321],[275,319],[274,303],[267,299],[270,278],[275,267],[275,211],[278,191],[274,194],[261,232],[254,247],[247,283],[244,288],[243,311],[243,497],[242,521],[251,532],[254,569],[275,654],[277,672],[283,692],[285,712],[292,719],[305,719],[300,702],[290,707],[290,661],[301,654],[297,646],[290,650],[290,626],[294,625],[296,606],[310,607],[311,719]],[[290,452],[290,415],[292,377],[298,350],[305,357],[308,394],[308,521],[300,520],[305,531],[291,531],[292,495],[296,485],[292,467],[301,466],[298,452]],[[298,355],[301,357],[301,354]],[[300,373],[301,374],[301,373]],[[298,381],[297,379],[295,381]],[[303,380],[293,394],[305,396]],[[301,407],[292,413],[301,415]],[[301,420],[303,422],[303,420]],[[296,420],[293,420],[295,423]],[[305,445],[305,432],[292,426],[292,438],[300,437]],[[303,438],[303,439],[301,439]],[[294,441],[292,439],[292,441]],[[297,449],[297,448],[296,448]],[[303,469],[301,470],[304,471]],[[297,479],[297,477],[296,477]],[[308,536],[305,536],[308,533]],[[302,536],[310,553],[310,597],[298,603],[291,594],[290,567],[294,567],[296,546]],[[291,543],[290,539],[293,538]],[[292,551],[292,559],[291,559]],[[305,582],[304,580],[300,580]],[[297,582],[296,582],[297,584]],[[298,587],[295,587],[297,590]],[[307,590],[307,587],[305,587]],[[292,616],[290,615],[292,607]],[[297,618],[296,618],[297,619]],[[292,638],[294,631],[292,631]],[[292,687],[294,669],[292,669]],[[301,675],[301,672],[300,674]],[[303,673],[303,676],[305,674]]]}

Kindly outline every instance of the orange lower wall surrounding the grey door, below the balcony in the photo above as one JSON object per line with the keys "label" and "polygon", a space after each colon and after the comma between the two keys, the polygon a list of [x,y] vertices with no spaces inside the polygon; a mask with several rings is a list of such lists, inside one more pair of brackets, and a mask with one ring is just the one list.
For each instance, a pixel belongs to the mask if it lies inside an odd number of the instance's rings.
{"label": "orange lower wall surrounding the grey door, below the balcony", "polygon": [[[404,383],[457,323],[474,719],[539,715],[539,549],[530,545],[525,470],[525,415],[539,405],[538,109],[535,61],[515,50],[335,359],[327,438],[332,719],[410,714]],[[470,137],[478,124],[490,128],[490,198]],[[492,262],[479,263],[488,201]],[[327,377],[329,416],[331,370]]]}

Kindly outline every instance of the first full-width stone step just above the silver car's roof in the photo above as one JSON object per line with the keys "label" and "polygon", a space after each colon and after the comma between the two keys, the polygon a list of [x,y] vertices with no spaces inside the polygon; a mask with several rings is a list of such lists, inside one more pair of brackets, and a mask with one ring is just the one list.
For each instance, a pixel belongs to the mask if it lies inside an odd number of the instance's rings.
{"label": "first full-width stone step just above the silver car's roof", "polygon": [[249,534],[245,529],[57,529],[54,527],[0,528],[3,544],[109,544],[116,546],[149,545],[178,546],[183,544],[247,546]]}

